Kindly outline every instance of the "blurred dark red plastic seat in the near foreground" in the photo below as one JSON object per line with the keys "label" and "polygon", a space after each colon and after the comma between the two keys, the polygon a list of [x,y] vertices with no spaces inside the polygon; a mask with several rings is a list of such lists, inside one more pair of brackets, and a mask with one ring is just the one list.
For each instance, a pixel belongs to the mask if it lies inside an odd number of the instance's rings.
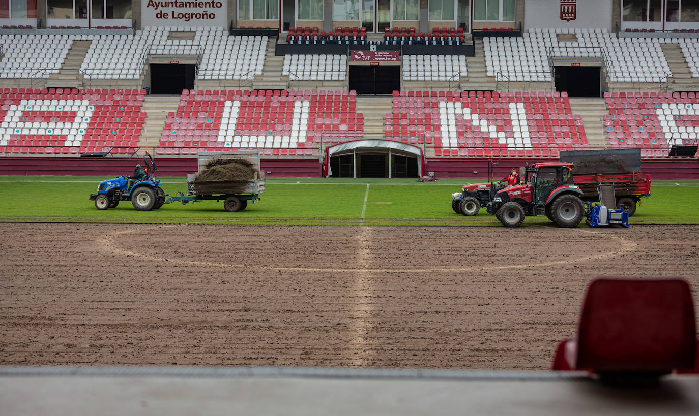
{"label": "blurred dark red plastic seat in the near foreground", "polygon": [[597,374],[696,372],[689,285],[682,280],[598,279],[590,284],[577,339],[559,343],[554,370]]}

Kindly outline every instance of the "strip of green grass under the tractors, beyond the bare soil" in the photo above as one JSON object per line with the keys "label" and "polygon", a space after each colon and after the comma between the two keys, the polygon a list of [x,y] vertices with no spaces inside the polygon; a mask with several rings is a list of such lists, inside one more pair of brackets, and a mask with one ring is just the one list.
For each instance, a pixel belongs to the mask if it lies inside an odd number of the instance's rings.
{"label": "strip of green grass under the tractors, beyond the bare soil", "polygon": [[[136,211],[131,202],[98,211],[89,194],[105,177],[0,177],[0,221],[60,223],[212,223],[296,225],[500,225],[485,209],[475,217],[454,214],[452,193],[484,179],[268,178],[261,201],[245,211],[223,202],[164,205]],[[159,178],[166,193],[185,192],[184,178]],[[699,224],[699,181],[654,181],[631,224]],[[524,225],[551,224],[528,217]],[[581,225],[583,226],[583,225]]]}

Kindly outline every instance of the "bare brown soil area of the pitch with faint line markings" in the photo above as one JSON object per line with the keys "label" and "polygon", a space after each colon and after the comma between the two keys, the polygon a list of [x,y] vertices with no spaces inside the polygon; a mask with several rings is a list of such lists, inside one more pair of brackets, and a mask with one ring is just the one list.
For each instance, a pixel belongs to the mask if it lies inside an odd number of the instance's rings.
{"label": "bare brown soil area of the pitch with faint line markings", "polygon": [[699,226],[0,224],[0,364],[537,369],[596,276],[679,276]]}

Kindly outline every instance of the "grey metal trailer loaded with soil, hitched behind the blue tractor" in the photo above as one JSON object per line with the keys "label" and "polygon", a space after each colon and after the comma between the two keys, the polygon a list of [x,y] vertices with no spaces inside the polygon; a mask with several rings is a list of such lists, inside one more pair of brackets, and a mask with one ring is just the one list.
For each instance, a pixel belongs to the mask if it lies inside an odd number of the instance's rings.
{"label": "grey metal trailer loaded with soil, hitched behind the blue tractor", "polygon": [[[243,160],[250,163],[254,179],[240,181],[196,181],[211,161]],[[166,204],[173,202],[223,201],[226,211],[237,212],[247,207],[248,202],[259,202],[265,191],[264,172],[260,169],[260,155],[257,151],[206,151],[197,155],[199,172],[187,174],[187,195],[178,192],[167,198]]]}

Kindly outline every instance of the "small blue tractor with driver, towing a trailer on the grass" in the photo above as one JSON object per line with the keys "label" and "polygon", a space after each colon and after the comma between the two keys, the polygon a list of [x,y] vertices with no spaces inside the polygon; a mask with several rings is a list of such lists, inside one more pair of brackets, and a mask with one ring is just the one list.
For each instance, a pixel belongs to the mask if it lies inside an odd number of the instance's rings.
{"label": "small blue tractor with driver, towing a trailer on the grass", "polygon": [[146,178],[142,181],[130,182],[131,177],[126,175],[101,181],[97,186],[97,193],[89,195],[96,209],[115,208],[120,201],[131,201],[131,205],[138,211],[162,207],[167,195],[160,187],[161,182],[155,179],[157,167],[147,151],[143,155],[143,164]]}

